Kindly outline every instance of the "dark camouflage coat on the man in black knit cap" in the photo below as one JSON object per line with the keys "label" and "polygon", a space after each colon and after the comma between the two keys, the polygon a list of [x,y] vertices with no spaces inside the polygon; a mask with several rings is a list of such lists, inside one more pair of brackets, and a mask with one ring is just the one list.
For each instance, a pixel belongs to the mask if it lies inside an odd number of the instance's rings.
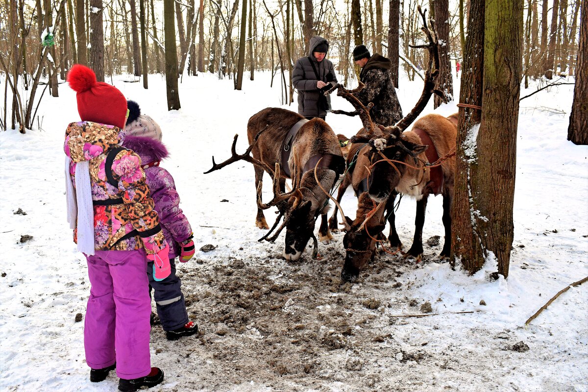
{"label": "dark camouflage coat on the man in black knit cap", "polygon": [[356,94],[363,105],[373,102],[370,116],[373,122],[383,126],[394,125],[402,119],[402,108],[390,76],[390,65],[389,59],[374,53],[359,76],[365,87]]}

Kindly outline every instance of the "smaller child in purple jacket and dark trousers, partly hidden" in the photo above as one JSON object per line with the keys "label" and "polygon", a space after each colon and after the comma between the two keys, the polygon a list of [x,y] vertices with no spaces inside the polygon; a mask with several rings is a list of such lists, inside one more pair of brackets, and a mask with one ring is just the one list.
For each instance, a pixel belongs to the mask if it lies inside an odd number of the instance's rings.
{"label": "smaller child in purple jacket and dark trousers, partly hidden", "polygon": [[169,262],[171,274],[159,281],[153,277],[153,262],[149,260],[147,274],[149,286],[155,290],[157,313],[168,340],[182,336],[191,336],[198,332],[198,326],[188,320],[186,303],[182,294],[182,281],[176,276],[175,257],[180,256],[182,263],[188,262],[194,255],[192,228],[179,207],[180,197],[176,192],[173,178],[159,162],[168,157],[168,150],[161,142],[162,133],[159,125],[149,116],[141,115],[139,105],[127,101],[129,118],[126,122],[125,148],[132,149],[141,158],[145,170],[146,182],[151,190],[155,211],[163,228],[163,235],[169,244]]}

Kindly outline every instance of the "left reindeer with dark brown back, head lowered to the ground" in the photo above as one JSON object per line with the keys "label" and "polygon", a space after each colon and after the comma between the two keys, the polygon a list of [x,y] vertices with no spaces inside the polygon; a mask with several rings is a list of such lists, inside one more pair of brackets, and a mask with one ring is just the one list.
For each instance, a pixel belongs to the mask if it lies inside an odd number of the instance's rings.
{"label": "left reindeer with dark brown back, head lowered to the ground", "polygon": [[[286,260],[298,260],[310,238],[315,246],[313,257],[316,257],[317,240],[313,232],[319,215],[319,240],[328,242],[333,238],[326,219],[330,195],[328,192],[325,195],[321,189],[335,186],[345,169],[345,160],[335,132],[320,118],[306,120],[290,110],[266,108],[249,119],[247,135],[250,144],[245,153],[238,155],[235,152],[238,137],[235,135],[231,158],[219,164],[213,158],[212,168],[206,173],[238,160],[253,163],[258,204],[255,225],[260,229],[268,229],[263,210],[276,206],[279,211],[272,229],[259,240],[274,242],[286,227],[283,257]],[[267,203],[262,202],[264,171],[273,177],[273,199]],[[285,192],[286,178],[292,178],[290,192]],[[269,237],[282,217],[282,225]]]}

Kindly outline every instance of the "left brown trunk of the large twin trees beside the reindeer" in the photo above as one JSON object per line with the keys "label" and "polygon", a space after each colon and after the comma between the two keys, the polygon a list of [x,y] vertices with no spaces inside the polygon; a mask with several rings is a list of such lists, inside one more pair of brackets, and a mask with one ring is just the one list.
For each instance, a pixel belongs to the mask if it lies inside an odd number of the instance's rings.
{"label": "left brown trunk of the large twin trees beside the reindeer", "polygon": [[[470,8],[459,102],[482,106],[485,0],[472,0]],[[472,199],[470,199],[473,192],[470,172],[475,170],[478,165],[476,152],[473,148],[481,119],[481,110],[459,108],[450,262],[452,265],[455,262],[460,262],[463,268],[471,274],[480,270],[485,261],[480,248],[480,232],[477,221],[472,220],[474,207],[471,203]]]}

